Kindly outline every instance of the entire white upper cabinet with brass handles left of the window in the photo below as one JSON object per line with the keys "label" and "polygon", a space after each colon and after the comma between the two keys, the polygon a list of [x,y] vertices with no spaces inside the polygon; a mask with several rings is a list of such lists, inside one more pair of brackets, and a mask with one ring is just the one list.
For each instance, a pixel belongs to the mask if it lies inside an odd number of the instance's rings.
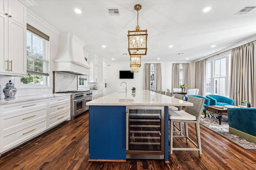
{"label": "entire white upper cabinet with brass handles left of the window", "polygon": [[0,0],[0,9],[0,74],[25,76],[26,6],[17,0]]}

